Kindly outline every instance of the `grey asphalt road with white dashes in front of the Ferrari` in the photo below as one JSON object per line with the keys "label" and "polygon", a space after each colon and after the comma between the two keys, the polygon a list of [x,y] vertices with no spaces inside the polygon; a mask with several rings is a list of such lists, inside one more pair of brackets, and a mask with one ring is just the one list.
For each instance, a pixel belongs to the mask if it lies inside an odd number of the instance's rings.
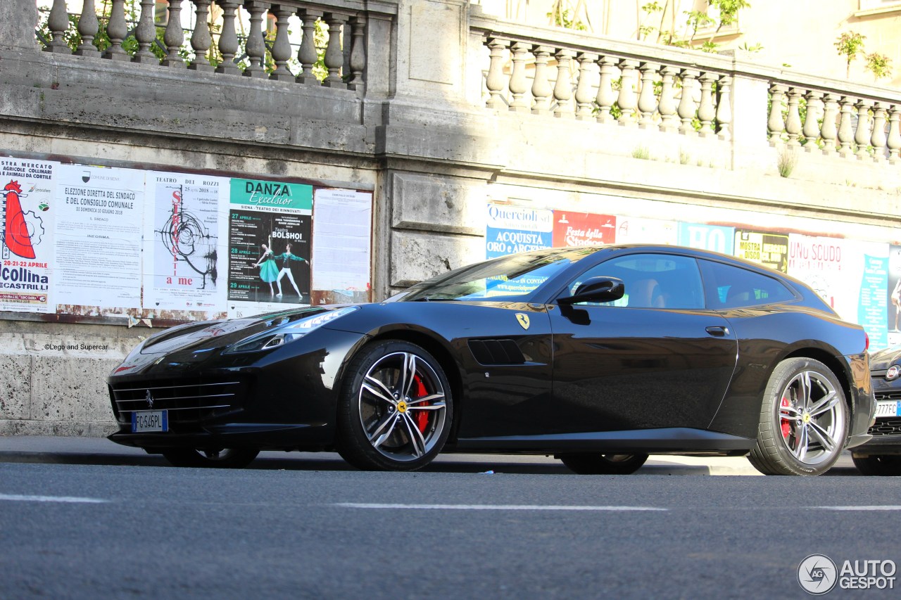
{"label": "grey asphalt road with white dashes in front of the Ferrari", "polygon": [[802,598],[810,554],[901,563],[897,477],[330,465],[0,462],[0,597]]}

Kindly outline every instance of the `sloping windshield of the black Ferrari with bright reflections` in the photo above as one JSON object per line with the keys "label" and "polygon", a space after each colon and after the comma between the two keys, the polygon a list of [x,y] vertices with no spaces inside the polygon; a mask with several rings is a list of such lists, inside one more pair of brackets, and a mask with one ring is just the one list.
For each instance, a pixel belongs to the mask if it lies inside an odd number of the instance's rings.
{"label": "sloping windshield of the black Ferrari with bright reflections", "polygon": [[536,250],[487,260],[423,281],[392,297],[391,301],[522,299],[562,269],[596,250]]}

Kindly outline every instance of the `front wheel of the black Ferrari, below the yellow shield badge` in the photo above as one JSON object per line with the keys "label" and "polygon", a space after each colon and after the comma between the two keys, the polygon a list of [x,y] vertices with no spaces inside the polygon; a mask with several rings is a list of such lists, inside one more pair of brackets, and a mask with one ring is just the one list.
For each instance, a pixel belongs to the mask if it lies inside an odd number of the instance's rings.
{"label": "front wheel of the black Ferrari, below the yellow shield badge", "polygon": [[378,341],[359,351],[338,402],[338,451],[357,468],[423,468],[451,432],[451,385],[425,349]]}

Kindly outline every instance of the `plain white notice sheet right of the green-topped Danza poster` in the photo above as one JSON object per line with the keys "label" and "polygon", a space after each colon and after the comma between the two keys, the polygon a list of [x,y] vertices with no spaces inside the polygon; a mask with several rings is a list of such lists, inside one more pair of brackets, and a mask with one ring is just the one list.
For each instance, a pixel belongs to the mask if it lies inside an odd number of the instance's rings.
{"label": "plain white notice sheet right of the green-topped Danza poster", "polygon": [[317,189],[314,211],[314,304],[368,302],[372,194]]}

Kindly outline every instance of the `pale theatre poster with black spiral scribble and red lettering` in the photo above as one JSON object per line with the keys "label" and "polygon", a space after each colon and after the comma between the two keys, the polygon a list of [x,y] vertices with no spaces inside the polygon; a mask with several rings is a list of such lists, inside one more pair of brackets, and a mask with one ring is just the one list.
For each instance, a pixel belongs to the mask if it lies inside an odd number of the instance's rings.
{"label": "pale theatre poster with black spiral scribble and red lettering", "polygon": [[144,308],[222,312],[227,234],[220,232],[220,207],[227,202],[229,179],[150,171],[147,184]]}

